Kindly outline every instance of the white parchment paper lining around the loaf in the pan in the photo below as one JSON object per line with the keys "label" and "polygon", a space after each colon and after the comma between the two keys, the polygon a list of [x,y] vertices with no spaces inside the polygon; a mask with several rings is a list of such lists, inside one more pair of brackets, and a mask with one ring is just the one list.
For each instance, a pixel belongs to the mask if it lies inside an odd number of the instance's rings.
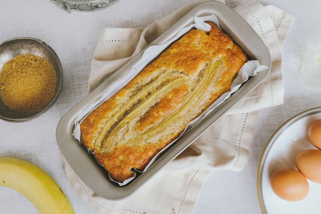
{"label": "white parchment paper lining around the loaf in the pan", "polygon": [[[210,16],[195,16],[194,17],[194,24],[185,27],[181,29],[176,36],[171,38],[167,43],[164,45],[155,45],[151,46],[148,49],[145,50],[141,60],[139,60],[135,66],[123,76],[122,79],[119,79],[115,81],[110,87],[107,89],[107,91],[103,94],[101,99],[96,101],[95,103],[91,104],[88,108],[86,108],[84,111],[79,113],[77,119],[75,120],[74,123],[74,130],[73,130],[73,136],[74,138],[81,143],[81,131],[80,131],[80,124],[82,121],[86,118],[86,116],[93,111],[95,108],[97,108],[99,105],[101,105],[104,101],[108,100],[110,96],[112,96],[115,92],[117,92],[119,89],[124,87],[130,80],[133,79],[134,76],[136,76],[149,62],[151,62],[155,57],[165,50],[171,43],[174,41],[178,40],[179,37],[182,35],[186,34],[188,31],[191,29],[195,28],[198,30],[204,30],[205,32],[209,32],[210,26],[206,24],[205,22],[213,22],[216,24],[218,27],[218,20],[216,16],[210,15]],[[185,128],[185,131],[181,134],[183,135],[186,133],[188,130],[190,130],[193,126],[195,126],[198,122],[202,121],[210,112],[212,112],[217,106],[221,105],[225,100],[227,100],[232,93],[234,93],[236,90],[239,89],[239,87],[246,82],[249,77],[255,76],[257,72],[262,71],[266,69],[267,66],[260,65],[257,60],[251,60],[248,61],[238,72],[236,78],[233,80],[232,85],[231,85],[231,90],[220,96],[218,100],[216,100],[209,108],[207,108],[198,118],[190,122],[187,127]],[[177,138],[179,139],[179,138]],[[176,139],[176,140],[177,140]],[[118,183],[119,186],[123,186],[128,184],[130,181],[132,181],[136,177],[136,172],[142,173],[144,172],[158,157],[159,155],[162,155],[163,151],[166,150],[168,147],[170,147],[173,143],[176,142],[174,140],[172,143],[170,143],[167,147],[165,147],[162,151],[160,151],[151,161],[150,163],[146,166],[146,168],[143,171],[138,171],[136,169],[132,169],[134,173],[134,176],[132,178],[127,179],[123,183],[116,182],[114,181],[111,176],[109,176],[110,180],[113,182]],[[88,152],[94,153],[94,151],[91,151],[88,149]]]}

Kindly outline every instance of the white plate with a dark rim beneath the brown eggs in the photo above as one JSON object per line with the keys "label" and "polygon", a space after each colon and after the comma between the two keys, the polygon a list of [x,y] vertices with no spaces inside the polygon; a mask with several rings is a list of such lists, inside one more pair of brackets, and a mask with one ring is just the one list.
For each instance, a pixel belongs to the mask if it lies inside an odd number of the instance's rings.
{"label": "white plate with a dark rim beneath the brown eggs", "polygon": [[303,200],[290,202],[276,196],[270,182],[273,172],[279,168],[290,167],[297,170],[295,158],[298,153],[317,149],[308,138],[308,130],[313,122],[320,119],[321,107],[299,113],[279,127],[266,145],[257,171],[257,193],[262,213],[320,213],[321,183],[307,179],[307,196]]}

